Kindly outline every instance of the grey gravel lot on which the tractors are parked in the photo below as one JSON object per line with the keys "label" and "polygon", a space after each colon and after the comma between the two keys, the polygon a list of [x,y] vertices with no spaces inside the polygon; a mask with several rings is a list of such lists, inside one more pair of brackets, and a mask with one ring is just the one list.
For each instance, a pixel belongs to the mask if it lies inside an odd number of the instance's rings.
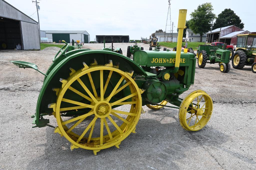
{"label": "grey gravel lot on which the tractors are parked", "polygon": [[[114,43],[126,56],[132,43]],[[111,44],[106,44],[109,47]],[[142,44],[148,50],[148,44]],[[102,49],[103,44],[83,48]],[[20,69],[10,60],[36,63],[46,72],[56,49],[0,52],[0,169],[255,169],[256,81],[251,67],[221,73],[218,64],[196,68],[193,90],[205,90],[214,101],[209,123],[200,131],[185,131],[178,110],[162,108],[141,115],[136,132],[120,149],[98,152],[75,149],[53,128],[31,128],[43,76]],[[172,49],[170,49],[172,50]],[[230,63],[231,64],[231,63]],[[50,116],[50,124],[57,126]]]}

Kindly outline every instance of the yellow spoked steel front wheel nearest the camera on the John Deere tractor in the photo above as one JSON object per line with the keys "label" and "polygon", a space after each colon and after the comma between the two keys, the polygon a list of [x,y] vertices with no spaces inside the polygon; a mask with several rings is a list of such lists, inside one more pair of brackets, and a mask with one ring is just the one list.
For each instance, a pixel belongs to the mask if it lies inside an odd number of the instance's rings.
{"label": "yellow spoked steel front wheel nearest the camera on the John Deere tractor", "polygon": [[180,124],[189,131],[200,130],[208,123],[212,110],[211,97],[203,90],[195,90],[180,104]]}

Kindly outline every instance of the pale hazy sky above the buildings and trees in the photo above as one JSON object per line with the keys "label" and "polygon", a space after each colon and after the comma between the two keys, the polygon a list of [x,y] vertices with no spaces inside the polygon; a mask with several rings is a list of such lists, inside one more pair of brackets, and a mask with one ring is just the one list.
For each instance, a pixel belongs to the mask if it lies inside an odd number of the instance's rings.
{"label": "pale hazy sky above the buildings and trees", "polygon": [[[31,0],[5,0],[34,20],[37,19],[36,6]],[[34,0],[35,1],[35,0]],[[168,0],[40,0],[38,1],[41,30],[86,30],[90,41],[95,35],[129,35],[130,40],[148,38],[155,30],[165,30],[168,12]],[[173,32],[177,32],[178,11],[188,9],[190,13],[198,5],[209,1],[171,0],[171,22]],[[256,32],[256,12],[253,5],[243,5],[241,1],[211,2],[213,13],[221,13],[231,8],[244,23],[244,30]],[[246,4],[255,4],[247,0]],[[241,7],[242,6],[242,7]],[[171,30],[168,16],[167,32]]]}

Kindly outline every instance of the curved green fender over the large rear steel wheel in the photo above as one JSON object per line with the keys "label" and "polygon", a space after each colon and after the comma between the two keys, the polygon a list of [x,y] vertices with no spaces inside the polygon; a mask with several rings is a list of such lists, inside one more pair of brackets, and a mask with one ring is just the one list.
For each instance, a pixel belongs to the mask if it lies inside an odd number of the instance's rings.
{"label": "curved green fender over the large rear steel wheel", "polygon": [[83,67],[83,62],[90,66],[90,64],[93,63],[94,58],[97,60],[98,65],[105,65],[109,63],[109,60],[112,60],[113,65],[119,63],[119,69],[122,71],[133,70],[134,75],[146,75],[146,72],[137,63],[116,52],[106,50],[87,50],[72,54],[58,62],[58,64],[50,70],[48,76],[45,78],[38,96],[36,114],[34,118],[34,123],[38,125],[38,127],[46,126],[45,123],[43,123],[45,122],[45,119],[40,119],[40,117],[53,112],[52,108],[48,108],[48,104],[56,103],[57,95],[55,91],[52,91],[52,88],[61,87],[61,82],[59,81],[60,78],[67,79],[69,77],[70,67],[75,70],[79,70]]}

